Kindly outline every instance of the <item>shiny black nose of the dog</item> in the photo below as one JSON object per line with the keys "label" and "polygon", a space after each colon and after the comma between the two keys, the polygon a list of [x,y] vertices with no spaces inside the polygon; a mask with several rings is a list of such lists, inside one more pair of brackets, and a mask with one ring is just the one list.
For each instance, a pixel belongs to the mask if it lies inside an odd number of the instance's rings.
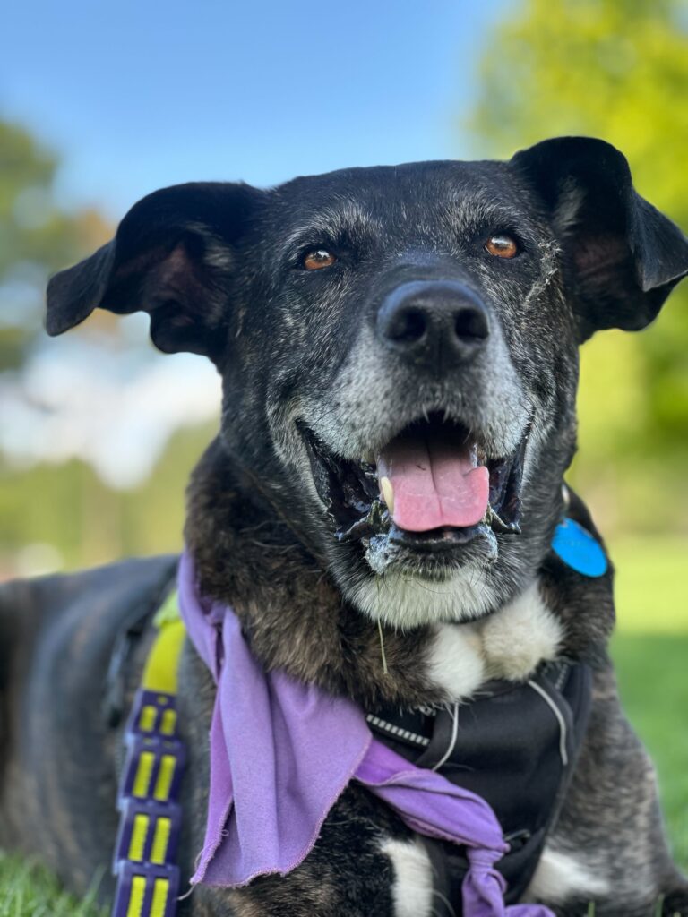
{"label": "shiny black nose of the dog", "polygon": [[483,348],[490,320],[477,294],[461,283],[414,281],[385,298],[377,329],[384,345],[407,361],[441,371]]}

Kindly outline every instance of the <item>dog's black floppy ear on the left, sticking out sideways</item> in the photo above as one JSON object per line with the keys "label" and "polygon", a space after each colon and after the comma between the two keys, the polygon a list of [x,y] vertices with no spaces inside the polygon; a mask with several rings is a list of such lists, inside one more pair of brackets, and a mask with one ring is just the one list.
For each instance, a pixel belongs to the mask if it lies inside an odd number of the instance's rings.
{"label": "dog's black floppy ear on the left, sticking out sideways", "polygon": [[144,197],[111,242],[50,279],[48,334],[79,325],[96,307],[144,311],[157,348],[215,359],[226,338],[235,246],[261,196],[246,184],[191,182]]}

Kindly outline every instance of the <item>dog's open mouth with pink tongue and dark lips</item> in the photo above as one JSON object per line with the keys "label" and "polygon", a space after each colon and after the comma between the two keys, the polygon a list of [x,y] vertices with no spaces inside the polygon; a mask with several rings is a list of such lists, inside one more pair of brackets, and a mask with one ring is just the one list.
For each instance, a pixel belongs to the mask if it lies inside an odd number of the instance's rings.
{"label": "dog's open mouth with pink tongue and dark lips", "polygon": [[435,552],[491,531],[520,531],[527,433],[511,455],[492,457],[465,427],[430,414],[394,436],[374,462],[338,458],[306,427],[302,434],[341,541],[385,536]]}

